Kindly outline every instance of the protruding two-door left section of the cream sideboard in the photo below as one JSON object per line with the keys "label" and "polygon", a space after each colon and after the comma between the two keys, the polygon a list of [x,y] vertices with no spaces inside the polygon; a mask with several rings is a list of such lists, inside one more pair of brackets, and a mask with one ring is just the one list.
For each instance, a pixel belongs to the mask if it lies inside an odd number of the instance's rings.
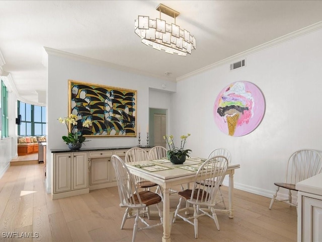
{"label": "protruding two-door left section of the cream sideboard", "polygon": [[89,193],[88,152],[52,154],[52,199]]}

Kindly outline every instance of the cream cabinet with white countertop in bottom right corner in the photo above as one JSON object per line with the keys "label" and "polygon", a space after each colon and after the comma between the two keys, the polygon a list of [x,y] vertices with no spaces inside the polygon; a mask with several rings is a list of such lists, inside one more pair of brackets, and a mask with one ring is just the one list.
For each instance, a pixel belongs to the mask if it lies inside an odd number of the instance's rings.
{"label": "cream cabinet with white countertop in bottom right corner", "polygon": [[297,241],[322,241],[322,174],[296,184]]}

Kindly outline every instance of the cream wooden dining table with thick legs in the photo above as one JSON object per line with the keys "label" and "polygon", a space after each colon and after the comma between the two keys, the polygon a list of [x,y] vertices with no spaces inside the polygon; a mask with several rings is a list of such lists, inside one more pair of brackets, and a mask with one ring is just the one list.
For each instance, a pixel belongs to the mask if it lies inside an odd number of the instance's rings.
{"label": "cream wooden dining table with thick legs", "polygon": [[[138,168],[135,165],[144,165],[153,163],[155,165],[160,165],[164,167],[169,167],[173,169],[167,170],[160,170],[160,171],[153,171],[150,172],[148,170],[144,170],[142,168]],[[131,162],[126,163],[127,167],[129,168],[130,172],[134,175],[140,176],[146,180],[152,181],[157,185],[160,185],[163,188],[163,242],[170,242],[170,232],[171,232],[171,220],[173,214],[170,214],[170,194],[169,190],[171,187],[181,184],[189,184],[195,180],[196,171],[189,171],[182,168],[177,168],[178,166],[186,166],[186,165],[193,165],[193,164],[200,164],[200,162],[186,160],[184,164],[174,165],[171,162],[169,163],[157,163],[151,160],[148,161],[138,161],[138,162]],[[229,187],[228,187],[228,202],[229,207],[227,210],[229,218],[233,218],[233,174],[236,168],[240,168],[239,164],[231,164],[228,166],[226,174],[229,175]]]}

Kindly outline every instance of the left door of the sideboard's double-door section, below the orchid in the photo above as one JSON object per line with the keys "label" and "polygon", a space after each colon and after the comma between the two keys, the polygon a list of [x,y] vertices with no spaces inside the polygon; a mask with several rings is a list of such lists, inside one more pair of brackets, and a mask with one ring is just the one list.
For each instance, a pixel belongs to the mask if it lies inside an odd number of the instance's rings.
{"label": "left door of the sideboard's double-door section, below the orchid", "polygon": [[71,190],[71,153],[55,154],[54,156],[54,193]]}

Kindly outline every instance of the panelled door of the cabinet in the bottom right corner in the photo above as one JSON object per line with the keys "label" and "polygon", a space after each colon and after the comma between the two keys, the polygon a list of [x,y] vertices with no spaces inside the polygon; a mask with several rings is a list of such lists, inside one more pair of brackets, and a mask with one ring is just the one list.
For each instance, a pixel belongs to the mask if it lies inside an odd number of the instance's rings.
{"label": "panelled door of the cabinet in the bottom right corner", "polygon": [[302,241],[322,241],[322,200],[303,197]]}

